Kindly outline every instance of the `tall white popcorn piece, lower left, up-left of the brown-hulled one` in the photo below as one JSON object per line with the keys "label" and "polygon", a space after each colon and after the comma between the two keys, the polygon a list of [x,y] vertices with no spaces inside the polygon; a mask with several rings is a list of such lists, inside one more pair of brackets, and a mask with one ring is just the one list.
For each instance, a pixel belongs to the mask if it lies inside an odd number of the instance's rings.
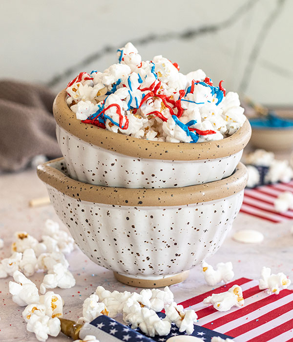
{"label": "tall white popcorn piece, lower left, up-left of the brown-hulled one", "polygon": [[14,281],[9,281],[9,292],[12,300],[20,306],[39,302],[39,291],[37,286],[20,271],[13,273]]}

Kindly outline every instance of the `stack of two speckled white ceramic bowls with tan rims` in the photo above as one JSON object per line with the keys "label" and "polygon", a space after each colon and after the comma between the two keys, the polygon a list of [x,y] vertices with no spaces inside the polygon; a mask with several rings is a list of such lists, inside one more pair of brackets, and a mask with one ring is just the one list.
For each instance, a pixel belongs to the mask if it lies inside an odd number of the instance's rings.
{"label": "stack of two speckled white ceramic bowls with tan rims", "polygon": [[220,141],[154,142],[84,124],[65,98],[63,90],[53,107],[63,158],[38,167],[56,213],[118,280],[183,281],[217,251],[240,210],[248,121]]}

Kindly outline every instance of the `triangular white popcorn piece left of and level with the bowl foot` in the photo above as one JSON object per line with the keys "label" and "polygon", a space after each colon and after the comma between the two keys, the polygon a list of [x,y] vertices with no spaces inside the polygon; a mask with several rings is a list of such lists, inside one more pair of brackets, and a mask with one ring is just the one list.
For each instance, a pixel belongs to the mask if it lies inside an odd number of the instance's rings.
{"label": "triangular white popcorn piece left of and level with the bowl foot", "polygon": [[74,285],[75,279],[71,272],[69,272],[63,264],[58,263],[53,266],[53,270],[49,271],[49,273],[44,276],[40,286],[40,292],[44,294],[46,289],[54,289],[56,287],[69,289]]}

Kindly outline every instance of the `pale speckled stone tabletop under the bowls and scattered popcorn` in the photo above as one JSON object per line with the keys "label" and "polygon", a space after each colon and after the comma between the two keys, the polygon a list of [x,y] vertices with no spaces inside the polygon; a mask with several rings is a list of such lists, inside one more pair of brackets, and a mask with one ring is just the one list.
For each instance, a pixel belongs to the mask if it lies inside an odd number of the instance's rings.
{"label": "pale speckled stone tabletop under the bowls and scattered popcorn", "polygon": [[[38,179],[36,172],[29,170],[21,173],[0,175],[0,237],[4,240],[4,248],[0,250],[0,258],[10,256],[10,245],[15,231],[27,231],[36,238],[41,238],[41,228],[47,218],[60,222],[51,205],[30,208],[29,200],[47,195],[46,188]],[[61,223],[61,222],[60,222]],[[232,261],[235,278],[246,277],[258,279],[262,266],[272,268],[273,273],[284,272],[293,278],[293,235],[290,233],[292,220],[281,224],[272,224],[246,214],[239,214],[226,241],[216,255],[207,261],[215,265],[219,261]],[[61,223],[61,228],[66,229]],[[243,229],[256,229],[265,236],[258,245],[240,244],[231,239],[233,232]],[[76,278],[72,289],[54,289],[64,299],[64,318],[77,320],[82,314],[85,298],[94,292],[98,285],[108,290],[140,291],[119,283],[113,273],[90,261],[80,250],[66,256],[70,263],[70,271]],[[36,273],[30,277],[37,286],[42,282],[43,274]],[[8,293],[8,282],[11,277],[0,279],[0,341],[1,342],[35,342],[33,333],[26,331],[26,324],[19,307],[12,301]],[[189,278],[181,284],[171,286],[175,301],[180,302],[212,287],[205,283],[198,266],[190,271]],[[291,286],[292,288],[292,286]],[[62,333],[57,338],[50,337],[48,342],[70,341]]]}

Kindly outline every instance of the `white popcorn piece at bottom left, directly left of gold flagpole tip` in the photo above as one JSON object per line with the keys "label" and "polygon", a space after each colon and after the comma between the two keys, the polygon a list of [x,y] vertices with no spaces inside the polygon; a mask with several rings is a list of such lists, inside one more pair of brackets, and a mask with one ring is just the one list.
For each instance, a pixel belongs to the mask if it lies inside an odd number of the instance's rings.
{"label": "white popcorn piece at bottom left, directly left of gold flagpole tip", "polygon": [[49,316],[39,316],[37,314],[32,314],[27,322],[27,331],[33,332],[36,338],[44,342],[50,336],[58,336],[61,331],[61,323],[57,317],[50,318]]}

